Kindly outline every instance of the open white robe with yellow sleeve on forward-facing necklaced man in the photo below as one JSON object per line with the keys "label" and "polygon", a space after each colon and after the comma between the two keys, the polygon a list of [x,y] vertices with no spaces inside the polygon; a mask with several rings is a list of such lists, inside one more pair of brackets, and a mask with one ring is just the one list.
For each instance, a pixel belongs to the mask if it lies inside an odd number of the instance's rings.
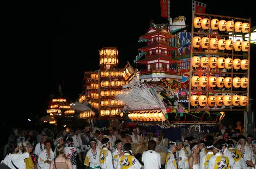
{"label": "open white robe with yellow sleeve on forward-facing necklaced man", "polygon": [[88,166],[89,169],[100,168],[100,149],[96,148],[95,154],[93,154],[93,149],[91,148],[84,159],[84,165]]}

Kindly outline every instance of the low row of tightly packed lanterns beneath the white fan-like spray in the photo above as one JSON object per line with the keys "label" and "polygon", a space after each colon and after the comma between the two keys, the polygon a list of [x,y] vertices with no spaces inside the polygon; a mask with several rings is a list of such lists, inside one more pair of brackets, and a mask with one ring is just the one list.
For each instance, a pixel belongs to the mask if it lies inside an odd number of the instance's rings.
{"label": "low row of tightly packed lanterns beneath the white fan-like spray", "polygon": [[160,110],[154,111],[132,111],[128,117],[131,121],[165,121],[163,113]]}

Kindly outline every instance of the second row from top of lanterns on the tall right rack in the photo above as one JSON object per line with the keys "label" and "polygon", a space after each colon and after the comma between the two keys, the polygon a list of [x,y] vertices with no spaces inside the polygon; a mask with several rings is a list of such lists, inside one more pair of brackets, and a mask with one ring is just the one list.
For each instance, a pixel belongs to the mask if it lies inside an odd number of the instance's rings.
{"label": "second row from top of lanterns on the tall right rack", "polygon": [[233,47],[235,51],[249,51],[249,42],[248,41],[243,41],[241,42],[240,40],[236,40],[235,43],[233,43],[233,40],[225,40],[225,39],[220,39],[218,38],[209,38],[209,37],[199,37],[199,36],[194,36],[193,37],[193,47],[194,48],[199,48],[202,47],[203,49],[208,49],[209,47],[211,49],[218,49],[218,50],[232,50]]}

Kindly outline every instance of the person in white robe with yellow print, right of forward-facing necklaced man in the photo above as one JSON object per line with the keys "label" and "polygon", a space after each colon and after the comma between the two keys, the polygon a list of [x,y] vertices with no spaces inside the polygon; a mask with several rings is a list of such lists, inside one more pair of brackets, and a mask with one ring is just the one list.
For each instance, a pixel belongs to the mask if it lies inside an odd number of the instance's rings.
{"label": "person in white robe with yellow print, right of forward-facing necklaced man", "polygon": [[113,169],[112,153],[109,151],[110,144],[108,138],[102,139],[102,149],[100,151],[100,168]]}

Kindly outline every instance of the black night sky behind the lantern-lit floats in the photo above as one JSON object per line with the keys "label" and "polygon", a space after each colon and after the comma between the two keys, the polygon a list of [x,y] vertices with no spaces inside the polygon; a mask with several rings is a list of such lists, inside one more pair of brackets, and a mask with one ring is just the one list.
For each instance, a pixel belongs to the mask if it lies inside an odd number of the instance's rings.
{"label": "black night sky behind the lantern-lit floats", "polygon": [[[256,24],[250,12],[253,5],[201,2],[207,4],[208,14],[251,17]],[[191,8],[191,1],[170,1],[171,17],[185,16],[188,25]],[[98,50],[103,46],[118,47],[120,68],[127,61],[133,63],[137,49],[145,45],[138,43],[139,36],[147,32],[151,19],[167,22],[161,18],[159,0],[6,1],[1,13],[2,108],[7,109],[2,113],[15,119],[39,114],[50,94],[58,92],[59,83],[64,83],[65,96],[76,99],[83,71],[98,69]]]}

